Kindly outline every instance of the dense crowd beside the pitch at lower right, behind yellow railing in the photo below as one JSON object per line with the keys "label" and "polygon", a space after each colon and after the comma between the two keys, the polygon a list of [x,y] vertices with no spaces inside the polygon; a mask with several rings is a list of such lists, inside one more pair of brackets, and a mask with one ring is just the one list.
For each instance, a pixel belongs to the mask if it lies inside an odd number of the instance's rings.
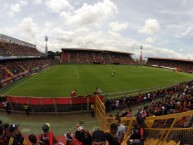
{"label": "dense crowd beside the pitch at lower right, behind yellow railing", "polygon": [[[156,99],[159,101],[155,101]],[[149,105],[146,103],[149,103]],[[107,99],[105,101],[106,111],[109,113],[114,110],[123,111],[126,108],[142,104],[147,117],[149,114],[160,116],[193,110],[193,81],[159,91],[139,94],[138,96]],[[123,114],[117,114],[117,116],[125,117],[129,114],[129,117],[131,117],[130,111],[123,111]]]}

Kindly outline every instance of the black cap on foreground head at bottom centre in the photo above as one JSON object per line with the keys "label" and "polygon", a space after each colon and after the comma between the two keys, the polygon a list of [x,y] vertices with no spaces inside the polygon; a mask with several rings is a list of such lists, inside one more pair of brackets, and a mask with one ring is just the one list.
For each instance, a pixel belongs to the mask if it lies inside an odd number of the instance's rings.
{"label": "black cap on foreground head at bottom centre", "polygon": [[106,141],[105,133],[101,130],[94,131],[92,134],[92,141],[94,142]]}

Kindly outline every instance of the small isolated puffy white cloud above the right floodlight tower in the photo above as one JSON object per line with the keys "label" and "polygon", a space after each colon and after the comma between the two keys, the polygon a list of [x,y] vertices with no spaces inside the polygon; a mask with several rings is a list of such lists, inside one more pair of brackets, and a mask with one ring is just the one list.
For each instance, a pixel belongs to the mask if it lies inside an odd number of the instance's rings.
{"label": "small isolated puffy white cloud above the right floodlight tower", "polygon": [[143,26],[141,29],[139,29],[138,31],[140,33],[144,33],[144,34],[148,34],[148,35],[152,35],[153,33],[155,33],[156,31],[158,31],[160,29],[160,25],[158,23],[158,21],[156,19],[147,19],[145,21],[145,26]]}

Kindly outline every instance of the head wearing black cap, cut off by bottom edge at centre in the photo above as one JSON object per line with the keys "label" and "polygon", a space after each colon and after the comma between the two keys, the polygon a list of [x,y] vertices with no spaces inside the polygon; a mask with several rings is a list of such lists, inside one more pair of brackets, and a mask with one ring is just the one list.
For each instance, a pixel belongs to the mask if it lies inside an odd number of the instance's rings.
{"label": "head wearing black cap, cut off by bottom edge at centre", "polygon": [[92,134],[92,145],[105,145],[105,133],[101,130],[96,130]]}

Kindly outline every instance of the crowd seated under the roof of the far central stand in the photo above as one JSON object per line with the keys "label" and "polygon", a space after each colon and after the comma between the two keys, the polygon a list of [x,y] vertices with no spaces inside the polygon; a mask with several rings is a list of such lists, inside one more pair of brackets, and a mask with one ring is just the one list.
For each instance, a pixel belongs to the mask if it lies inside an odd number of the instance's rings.
{"label": "crowd seated under the roof of the far central stand", "polygon": [[72,51],[62,52],[62,62],[67,63],[101,63],[133,64],[131,55],[106,52]]}

